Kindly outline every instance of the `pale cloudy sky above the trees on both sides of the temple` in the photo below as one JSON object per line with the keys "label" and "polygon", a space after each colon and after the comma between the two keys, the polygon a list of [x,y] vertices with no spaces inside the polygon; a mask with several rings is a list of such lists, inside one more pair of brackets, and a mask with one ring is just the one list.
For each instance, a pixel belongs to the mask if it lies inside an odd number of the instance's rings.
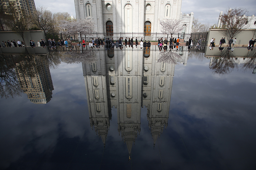
{"label": "pale cloudy sky above the trees on both sides of the temple", "polygon": [[[34,0],[36,7],[43,6],[52,13],[68,12],[71,16],[76,17],[75,3],[73,0]],[[256,3],[254,0],[183,0],[181,5],[182,13],[194,13],[194,18],[198,18],[202,24],[210,23],[211,25],[217,24],[220,11],[226,11],[229,8],[242,7],[247,9],[249,16],[256,15]]]}

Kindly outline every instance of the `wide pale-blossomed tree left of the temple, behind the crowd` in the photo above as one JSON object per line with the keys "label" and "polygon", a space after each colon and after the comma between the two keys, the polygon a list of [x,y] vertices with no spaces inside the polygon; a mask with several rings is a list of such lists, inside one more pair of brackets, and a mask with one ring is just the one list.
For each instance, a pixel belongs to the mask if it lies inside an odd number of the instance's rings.
{"label": "wide pale-blossomed tree left of the temple, behind the crowd", "polygon": [[94,23],[89,19],[62,21],[60,32],[64,34],[82,34],[90,35],[93,32]]}

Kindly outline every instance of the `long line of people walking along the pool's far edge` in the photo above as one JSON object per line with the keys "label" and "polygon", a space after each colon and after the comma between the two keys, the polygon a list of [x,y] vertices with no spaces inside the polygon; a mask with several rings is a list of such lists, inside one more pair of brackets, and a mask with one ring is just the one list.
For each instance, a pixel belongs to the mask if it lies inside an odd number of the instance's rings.
{"label": "long line of people walking along the pool's far edge", "polygon": [[[234,50],[235,48],[235,44],[236,44],[237,40],[236,38],[233,39],[233,37],[231,37],[231,39],[229,39],[228,41],[228,49],[230,50]],[[254,48],[254,44],[256,42],[256,39],[253,40],[253,38],[249,41],[249,44],[248,44],[248,50],[249,49],[253,49]],[[170,40],[168,41],[167,38],[159,38],[158,39],[158,48],[159,48],[159,51],[166,51],[167,50],[167,47],[168,47],[168,43],[169,43],[169,48],[170,49],[173,49],[173,48],[177,48],[178,49],[178,46],[180,44],[180,39],[179,37],[176,39],[176,38],[173,38],[171,37]],[[220,43],[219,43],[219,50],[222,51],[224,49],[224,47],[222,47],[223,44],[226,43],[226,39],[225,37],[221,38],[220,39]],[[78,42],[77,46],[83,46],[85,47],[86,45],[86,42],[85,40],[83,39],[82,40],[82,44],[80,42]],[[120,48],[120,49],[123,49],[124,46],[125,47],[132,47],[133,48],[133,45],[134,45],[134,40],[133,40],[133,37],[132,38],[125,38],[123,40],[123,37],[120,37],[118,40],[116,40],[116,42],[114,41],[114,39],[111,37],[111,38],[105,38],[103,40],[103,38],[92,38],[92,40],[89,42],[89,47],[90,48],[100,48],[100,46],[103,47],[103,45],[105,45],[105,48],[110,48],[110,47],[115,47],[116,48]],[[137,48],[137,46],[139,45],[138,43],[138,37],[136,37],[135,39],[135,47]],[[196,42],[196,48],[198,48],[198,50],[200,50],[200,47],[202,45],[202,38],[198,39],[197,42]],[[25,46],[25,43],[23,41],[20,42],[20,40],[16,41],[15,40],[11,40],[11,42],[9,40],[6,41],[3,41],[0,45],[0,47],[24,47]],[[36,44],[34,42],[34,40],[30,40],[30,46],[31,47],[35,47]],[[38,40],[37,41],[37,46],[41,46],[41,47],[46,47],[46,46],[51,46],[51,48],[56,48],[56,46],[66,46],[67,49],[69,49],[69,51],[72,50],[72,45],[71,45],[71,41],[70,39],[61,39],[61,40],[58,40],[58,42],[56,43],[56,41],[54,39],[48,39],[47,41],[44,41],[44,39],[41,39],[41,40]],[[143,38],[140,39],[140,48],[143,48],[143,47],[150,47],[151,46],[151,43],[150,41],[146,41],[144,40],[143,41]],[[188,40],[188,51],[191,49],[191,47],[193,46],[193,40],[192,38],[190,37],[189,40]],[[213,48],[215,47],[215,38],[212,38],[211,39],[211,42],[210,42],[210,50],[213,50]],[[255,47],[256,48],[256,47]]]}

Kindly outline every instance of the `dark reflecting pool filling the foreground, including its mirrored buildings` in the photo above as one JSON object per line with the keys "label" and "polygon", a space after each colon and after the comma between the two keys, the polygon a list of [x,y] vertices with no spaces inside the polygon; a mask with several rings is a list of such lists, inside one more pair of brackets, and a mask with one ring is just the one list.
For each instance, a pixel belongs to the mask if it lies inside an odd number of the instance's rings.
{"label": "dark reflecting pool filling the foreground, including its mirrored buildings", "polygon": [[22,47],[0,57],[0,169],[256,167],[255,49]]}

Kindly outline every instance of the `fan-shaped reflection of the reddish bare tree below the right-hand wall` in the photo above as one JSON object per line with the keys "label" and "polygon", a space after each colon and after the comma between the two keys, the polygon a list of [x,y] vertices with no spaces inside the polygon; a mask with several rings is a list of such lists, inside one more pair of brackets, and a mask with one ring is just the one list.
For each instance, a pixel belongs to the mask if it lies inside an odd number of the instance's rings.
{"label": "fan-shaped reflection of the reddish bare tree below the right-hand wall", "polygon": [[231,51],[224,51],[220,58],[212,62],[210,69],[214,70],[217,74],[229,74],[234,68],[238,68]]}

